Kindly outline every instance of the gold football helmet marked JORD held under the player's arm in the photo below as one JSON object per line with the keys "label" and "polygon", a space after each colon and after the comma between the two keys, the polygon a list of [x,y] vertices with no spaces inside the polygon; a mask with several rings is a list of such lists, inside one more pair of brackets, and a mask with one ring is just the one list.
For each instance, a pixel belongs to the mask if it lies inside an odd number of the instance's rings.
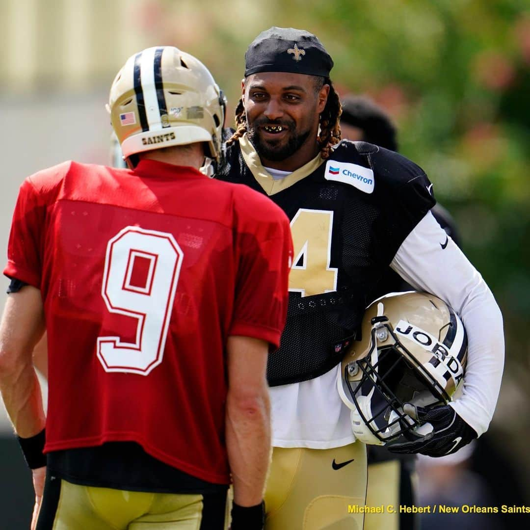
{"label": "gold football helmet marked JORD held under the player's arm", "polygon": [[[370,304],[337,380],[351,427],[366,444],[391,445],[430,433],[415,407],[444,405],[463,381],[467,337],[440,298],[415,291]],[[409,436],[407,436],[409,435]]]}

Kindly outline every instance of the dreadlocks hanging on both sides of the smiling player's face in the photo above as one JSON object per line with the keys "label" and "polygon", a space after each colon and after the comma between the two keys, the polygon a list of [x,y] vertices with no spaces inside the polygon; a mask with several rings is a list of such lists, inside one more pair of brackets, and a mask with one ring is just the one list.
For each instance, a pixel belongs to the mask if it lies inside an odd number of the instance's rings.
{"label": "dreadlocks hanging on both sides of the smiling player's face", "polygon": [[[320,156],[325,159],[329,157],[331,147],[340,142],[339,122],[340,115],[342,114],[342,106],[340,104],[339,95],[335,92],[335,88],[330,78],[316,76],[315,92],[320,92],[324,85],[330,85],[330,92],[324,110],[320,114],[320,134],[316,137],[316,142],[320,147]],[[226,145],[232,145],[246,133],[246,116],[242,98],[238,101],[235,109],[235,125],[236,131],[230,138],[228,138]]]}

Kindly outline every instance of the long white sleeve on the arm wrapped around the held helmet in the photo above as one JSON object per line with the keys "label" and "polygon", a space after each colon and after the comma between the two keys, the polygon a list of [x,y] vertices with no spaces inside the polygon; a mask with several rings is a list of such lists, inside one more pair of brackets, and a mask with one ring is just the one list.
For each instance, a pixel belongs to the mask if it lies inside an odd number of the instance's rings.
{"label": "long white sleeve on the arm wrapped around the held helmet", "polygon": [[[401,244],[391,267],[413,287],[447,302],[469,341],[462,396],[451,403],[479,436],[489,426],[504,366],[502,315],[491,290],[429,212]],[[445,248],[442,246],[445,245]]]}

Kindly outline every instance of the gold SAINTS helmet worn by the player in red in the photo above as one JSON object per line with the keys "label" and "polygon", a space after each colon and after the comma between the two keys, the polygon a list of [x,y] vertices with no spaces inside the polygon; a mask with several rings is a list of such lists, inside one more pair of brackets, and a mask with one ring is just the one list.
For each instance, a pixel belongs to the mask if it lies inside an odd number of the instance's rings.
{"label": "gold SAINTS helmet worn by the player in red", "polygon": [[125,63],[110,89],[108,111],[129,165],[136,153],[206,142],[218,159],[226,100],[198,59],[172,46],[147,48]]}

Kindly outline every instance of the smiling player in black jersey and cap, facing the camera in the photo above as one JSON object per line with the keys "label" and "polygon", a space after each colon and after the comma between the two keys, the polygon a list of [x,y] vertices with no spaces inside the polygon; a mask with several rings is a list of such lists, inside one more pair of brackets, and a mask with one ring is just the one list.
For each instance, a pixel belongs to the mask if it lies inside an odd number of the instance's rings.
{"label": "smiling player in black jersey and cap, facing the camera", "polygon": [[[340,141],[332,66],[307,31],[262,32],[245,55],[237,130],[218,172],[281,206],[295,246],[287,325],[268,365],[268,530],[361,528],[364,513],[379,508],[365,505],[366,451],[355,441],[336,382],[343,350],[388,267],[454,307],[469,334],[462,398],[430,411],[428,437],[393,451],[443,455],[482,434],[504,361],[499,308],[432,217],[425,172],[388,149]],[[399,507],[382,508],[393,509]]]}

